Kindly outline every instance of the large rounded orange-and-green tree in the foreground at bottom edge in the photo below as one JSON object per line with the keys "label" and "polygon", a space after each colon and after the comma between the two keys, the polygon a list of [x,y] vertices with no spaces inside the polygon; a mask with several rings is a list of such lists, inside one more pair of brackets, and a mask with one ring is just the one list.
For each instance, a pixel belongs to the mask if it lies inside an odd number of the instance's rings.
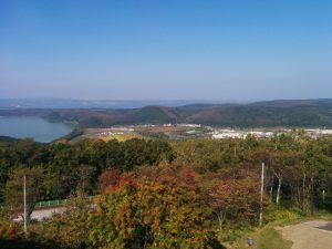
{"label": "large rounded orange-and-green tree in the foreground at bottom edge", "polygon": [[97,248],[212,248],[203,199],[172,183],[138,180],[108,190],[90,217]]}

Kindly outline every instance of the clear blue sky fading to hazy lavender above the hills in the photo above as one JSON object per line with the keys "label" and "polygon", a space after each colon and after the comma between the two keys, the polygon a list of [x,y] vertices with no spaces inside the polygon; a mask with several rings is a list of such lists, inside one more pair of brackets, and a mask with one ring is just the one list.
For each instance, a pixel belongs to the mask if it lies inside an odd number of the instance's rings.
{"label": "clear blue sky fading to hazy lavender above the hills", "polygon": [[332,1],[0,0],[0,97],[332,97]]}

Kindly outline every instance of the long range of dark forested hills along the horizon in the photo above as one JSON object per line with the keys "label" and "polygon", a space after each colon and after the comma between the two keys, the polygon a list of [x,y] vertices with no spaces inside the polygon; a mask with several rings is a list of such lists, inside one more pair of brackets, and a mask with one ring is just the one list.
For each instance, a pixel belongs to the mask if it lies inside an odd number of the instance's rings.
{"label": "long range of dark forested hills along the horizon", "polygon": [[332,100],[270,101],[251,104],[191,104],[128,110],[2,110],[0,115],[38,115],[79,122],[84,127],[121,124],[197,123],[236,127],[332,127]]}

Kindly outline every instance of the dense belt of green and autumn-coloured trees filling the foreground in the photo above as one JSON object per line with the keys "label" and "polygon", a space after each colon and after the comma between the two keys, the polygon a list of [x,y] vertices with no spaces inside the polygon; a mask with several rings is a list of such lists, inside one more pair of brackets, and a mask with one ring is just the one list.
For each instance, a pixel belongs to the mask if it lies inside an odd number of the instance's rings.
{"label": "dense belt of green and autumn-coloured trees filling the foreground", "polygon": [[[264,163],[263,203],[260,203]],[[37,201],[64,199],[66,211],[29,234]],[[222,248],[231,231],[332,209],[332,136],[302,131],[246,139],[59,141],[0,143],[3,248]],[[89,196],[97,196],[91,204]]]}

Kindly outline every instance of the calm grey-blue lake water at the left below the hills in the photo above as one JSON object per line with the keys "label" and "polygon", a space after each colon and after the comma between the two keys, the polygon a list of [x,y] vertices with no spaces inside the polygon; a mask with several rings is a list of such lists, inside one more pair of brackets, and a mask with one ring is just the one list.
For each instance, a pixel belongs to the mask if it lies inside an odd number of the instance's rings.
{"label": "calm grey-blue lake water at the left below the hills", "polygon": [[51,123],[39,117],[0,117],[0,135],[15,138],[31,137],[49,143],[69,134],[72,125]]}

